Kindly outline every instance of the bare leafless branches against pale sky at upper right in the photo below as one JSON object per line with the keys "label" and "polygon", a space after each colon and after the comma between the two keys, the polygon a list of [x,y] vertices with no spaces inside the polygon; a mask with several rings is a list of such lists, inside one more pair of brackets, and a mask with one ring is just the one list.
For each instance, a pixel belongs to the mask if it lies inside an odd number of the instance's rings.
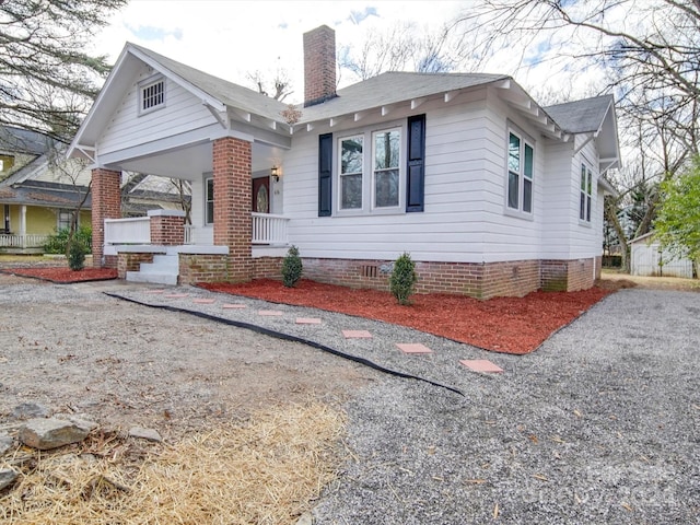
{"label": "bare leafless branches against pale sky at upper right", "polygon": [[698,153],[700,0],[486,0],[451,31],[462,38],[463,56],[481,65],[508,48],[511,74],[545,65],[593,94],[615,93],[628,161],[611,177],[619,196],[606,201],[606,219],[629,268],[619,210],[643,202],[630,236],[649,232],[660,184]]}

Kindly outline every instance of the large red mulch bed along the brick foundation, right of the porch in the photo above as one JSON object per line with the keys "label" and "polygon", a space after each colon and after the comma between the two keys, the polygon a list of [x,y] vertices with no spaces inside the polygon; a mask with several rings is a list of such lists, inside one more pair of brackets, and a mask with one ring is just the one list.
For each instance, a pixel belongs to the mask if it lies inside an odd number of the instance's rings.
{"label": "large red mulch bed along the brick foundation, right of the porch", "polygon": [[209,283],[215,292],[264,299],[276,303],[313,306],[408,326],[495,352],[523,354],[600,301],[610,290],[533,292],[525,298],[488,301],[446,295],[417,294],[401,306],[389,292],[357,290],[301,280],[295,288],[259,279],[243,284]]}

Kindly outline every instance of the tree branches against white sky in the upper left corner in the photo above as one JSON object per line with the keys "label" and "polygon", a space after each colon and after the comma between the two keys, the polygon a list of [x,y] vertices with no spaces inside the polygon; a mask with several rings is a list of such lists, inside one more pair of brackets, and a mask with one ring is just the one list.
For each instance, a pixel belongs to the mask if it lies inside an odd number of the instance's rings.
{"label": "tree branches against white sky in the upper left corner", "polygon": [[109,67],[84,49],[126,0],[0,1],[0,125],[69,142]]}

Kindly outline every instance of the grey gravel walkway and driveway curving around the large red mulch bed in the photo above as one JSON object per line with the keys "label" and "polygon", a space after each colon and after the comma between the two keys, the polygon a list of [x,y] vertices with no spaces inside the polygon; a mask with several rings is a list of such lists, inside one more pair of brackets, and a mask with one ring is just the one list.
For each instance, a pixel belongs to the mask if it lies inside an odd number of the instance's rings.
{"label": "grey gravel walkway and driveway curving around the large red mulch bed", "polygon": [[[697,293],[622,290],[538,351],[515,357],[196,288],[71,288],[256,324],[465,394],[374,373],[345,407],[348,458],[314,510],[317,524],[700,523]],[[259,315],[270,310],[281,315]],[[343,329],[373,337],[346,339]],[[434,352],[406,355],[399,342]],[[470,372],[463,359],[489,359],[504,373]]]}

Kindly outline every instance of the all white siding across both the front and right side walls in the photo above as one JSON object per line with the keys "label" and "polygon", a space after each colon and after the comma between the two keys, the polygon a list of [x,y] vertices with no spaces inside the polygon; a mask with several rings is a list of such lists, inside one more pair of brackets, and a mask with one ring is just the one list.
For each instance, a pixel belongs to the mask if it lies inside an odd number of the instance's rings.
{"label": "all white siding across both the front and right side walls", "polygon": [[[351,126],[331,130],[334,151],[338,136],[364,129]],[[505,144],[511,128],[534,141],[530,217],[506,211]],[[572,142],[542,137],[497,91],[481,90],[458,105],[430,104],[427,109],[423,212],[339,217],[334,208],[332,217],[319,218],[318,135],[296,136],[283,160],[290,242],[305,257],[387,259],[409,252],[416,260],[494,262],[597,256],[603,217],[602,196],[595,189],[595,142],[572,160],[573,150]],[[579,221],[582,154],[594,173],[590,225]],[[337,184],[334,177],[334,191]]]}

